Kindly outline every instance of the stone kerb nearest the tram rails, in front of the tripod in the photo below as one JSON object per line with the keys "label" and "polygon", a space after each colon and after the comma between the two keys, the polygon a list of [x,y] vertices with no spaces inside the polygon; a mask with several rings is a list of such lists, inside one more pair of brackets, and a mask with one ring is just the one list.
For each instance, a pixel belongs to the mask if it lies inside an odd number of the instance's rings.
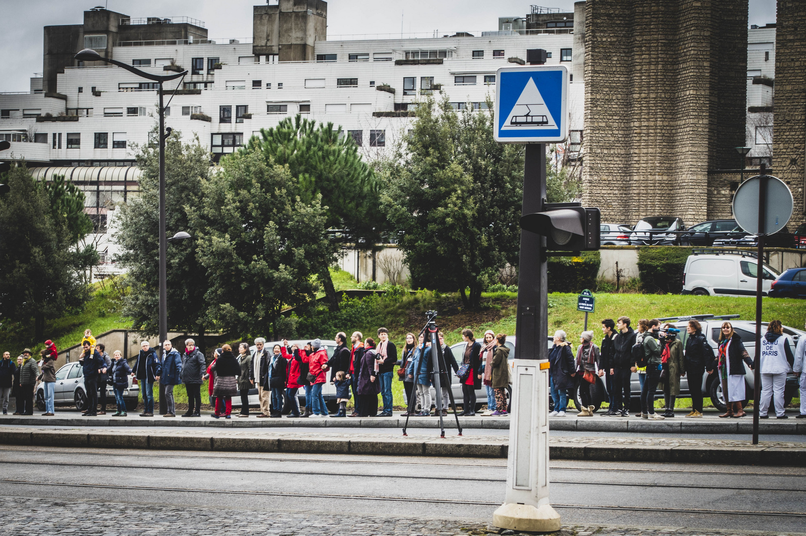
{"label": "stone kerb nearest the tram rails, in front of the tripod", "polygon": [[[100,447],[181,451],[288,452],[316,454],[506,458],[507,443],[461,439],[289,438],[231,434],[85,432],[81,430],[0,430],[0,444],[37,447]],[[729,463],[806,467],[806,447],[700,447],[552,443],[550,459],[610,462]]]}

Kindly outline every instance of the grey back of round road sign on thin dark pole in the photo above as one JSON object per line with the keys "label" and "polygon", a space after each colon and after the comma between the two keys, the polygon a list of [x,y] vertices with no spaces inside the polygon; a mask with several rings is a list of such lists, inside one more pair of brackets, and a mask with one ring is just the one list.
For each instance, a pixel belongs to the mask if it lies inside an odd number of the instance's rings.
{"label": "grey back of round road sign on thin dark pole", "polygon": [[[742,229],[758,235],[758,186],[760,176],[750,177],[739,185],[733,196],[733,216]],[[778,177],[767,175],[764,234],[774,235],[792,217],[794,201],[789,187]]]}

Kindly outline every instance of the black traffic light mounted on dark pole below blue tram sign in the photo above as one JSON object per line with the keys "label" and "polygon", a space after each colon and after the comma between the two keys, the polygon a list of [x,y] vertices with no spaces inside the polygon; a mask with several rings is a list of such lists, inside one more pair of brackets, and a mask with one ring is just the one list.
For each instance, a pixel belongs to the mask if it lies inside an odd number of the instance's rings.
{"label": "black traffic light mounted on dark pole below blue tram sign", "polygon": [[546,203],[545,212],[521,216],[521,229],[546,237],[552,251],[599,249],[601,214],[582,203]]}

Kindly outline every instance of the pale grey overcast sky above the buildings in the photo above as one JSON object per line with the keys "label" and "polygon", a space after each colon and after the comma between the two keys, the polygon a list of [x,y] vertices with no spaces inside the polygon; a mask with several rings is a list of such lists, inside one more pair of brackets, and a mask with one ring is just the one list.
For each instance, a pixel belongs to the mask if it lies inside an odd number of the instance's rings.
{"label": "pale grey overcast sky above the buildings", "polygon": [[[537,0],[532,0],[537,1]],[[666,2],[667,0],[658,0]],[[27,91],[28,78],[42,71],[42,27],[81,24],[84,10],[103,5],[132,17],[192,17],[205,21],[210,39],[251,38],[257,0],[0,0],[0,91]],[[272,2],[274,3],[274,2]],[[574,9],[573,0],[540,0],[547,7]],[[455,31],[497,30],[498,17],[526,15],[519,0],[330,0],[327,34],[405,34],[421,37]],[[775,22],[775,0],[750,0],[750,24]]]}

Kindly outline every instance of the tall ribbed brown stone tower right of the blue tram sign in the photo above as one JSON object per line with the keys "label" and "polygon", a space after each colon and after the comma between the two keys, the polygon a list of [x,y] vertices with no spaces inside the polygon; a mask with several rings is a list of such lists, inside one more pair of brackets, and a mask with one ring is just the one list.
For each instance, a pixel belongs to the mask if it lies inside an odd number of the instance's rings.
{"label": "tall ribbed brown stone tower right of the blue tram sign", "polygon": [[747,0],[586,2],[583,202],[603,221],[704,221],[708,170],[744,144],[746,27]]}

